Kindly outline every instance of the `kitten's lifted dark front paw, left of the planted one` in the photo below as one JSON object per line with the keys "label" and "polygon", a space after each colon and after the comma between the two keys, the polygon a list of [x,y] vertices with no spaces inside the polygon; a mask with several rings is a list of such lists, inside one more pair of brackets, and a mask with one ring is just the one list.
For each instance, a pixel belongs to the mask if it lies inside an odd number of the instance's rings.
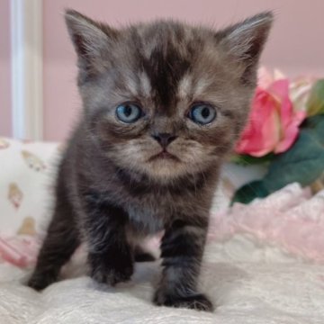
{"label": "kitten's lifted dark front paw, left of the planted one", "polygon": [[[103,257],[99,257],[103,258]],[[134,272],[131,258],[115,259],[111,262],[107,260],[92,260],[91,277],[100,284],[111,284],[127,282]]]}

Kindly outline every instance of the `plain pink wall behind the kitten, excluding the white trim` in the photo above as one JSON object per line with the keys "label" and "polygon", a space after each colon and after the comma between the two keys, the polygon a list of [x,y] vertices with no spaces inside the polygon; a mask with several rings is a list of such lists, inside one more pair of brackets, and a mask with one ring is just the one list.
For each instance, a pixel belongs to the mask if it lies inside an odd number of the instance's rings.
{"label": "plain pink wall behind the kitten, excluding the white trim", "polygon": [[[8,0],[0,0],[1,42]],[[75,53],[67,38],[64,8],[120,25],[155,17],[175,17],[193,23],[224,26],[260,11],[275,10],[276,21],[263,63],[280,67],[289,76],[324,76],[324,1],[295,0],[44,0],[44,138],[65,139],[80,111],[76,91]],[[4,20],[3,20],[4,18]],[[7,29],[6,29],[7,30]],[[6,44],[5,44],[6,46]],[[5,47],[4,46],[4,47]],[[2,46],[1,46],[2,48]],[[7,89],[9,57],[1,50],[0,134],[10,133],[10,97]]]}

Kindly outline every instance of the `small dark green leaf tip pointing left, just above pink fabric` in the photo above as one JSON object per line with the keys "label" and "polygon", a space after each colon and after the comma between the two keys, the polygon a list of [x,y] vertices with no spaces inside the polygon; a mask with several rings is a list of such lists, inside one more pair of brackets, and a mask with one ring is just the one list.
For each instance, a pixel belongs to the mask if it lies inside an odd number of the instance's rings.
{"label": "small dark green leaf tip pointing left, just above pink fabric", "polygon": [[241,186],[231,201],[248,203],[252,202],[255,198],[264,198],[269,194],[264,182],[262,180],[252,181],[248,184]]}

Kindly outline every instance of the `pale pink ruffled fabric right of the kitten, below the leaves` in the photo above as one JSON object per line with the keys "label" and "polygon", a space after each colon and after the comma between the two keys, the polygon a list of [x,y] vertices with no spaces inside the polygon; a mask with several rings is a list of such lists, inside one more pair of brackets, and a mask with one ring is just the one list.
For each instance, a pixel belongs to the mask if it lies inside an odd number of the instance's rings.
{"label": "pale pink ruffled fabric right of the kitten, below the leaves", "polygon": [[324,191],[311,197],[309,189],[289,184],[264,200],[235,203],[211,217],[210,240],[223,242],[238,233],[324,263]]}

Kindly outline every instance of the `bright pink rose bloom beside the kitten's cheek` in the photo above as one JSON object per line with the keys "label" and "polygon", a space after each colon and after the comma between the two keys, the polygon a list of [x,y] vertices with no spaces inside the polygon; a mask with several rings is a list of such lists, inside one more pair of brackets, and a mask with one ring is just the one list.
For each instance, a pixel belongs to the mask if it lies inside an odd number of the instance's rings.
{"label": "bright pink rose bloom beside the kitten's cheek", "polygon": [[236,146],[237,153],[253,157],[282,153],[290,148],[306,117],[306,112],[293,110],[286,78],[261,81],[264,87],[257,87],[247,127]]}

